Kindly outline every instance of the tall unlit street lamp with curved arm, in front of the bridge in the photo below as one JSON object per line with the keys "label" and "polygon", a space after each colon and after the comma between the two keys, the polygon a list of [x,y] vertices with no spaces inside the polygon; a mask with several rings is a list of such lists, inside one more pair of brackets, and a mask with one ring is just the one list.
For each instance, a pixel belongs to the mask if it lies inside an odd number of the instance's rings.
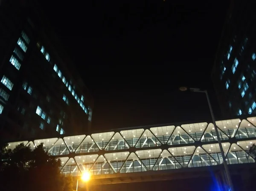
{"label": "tall unlit street lamp with curved arm, in front of the bridge", "polygon": [[232,179],[231,179],[231,176],[230,176],[230,171],[228,169],[227,161],[226,161],[225,154],[224,154],[224,150],[223,150],[223,147],[221,145],[221,139],[220,139],[220,136],[218,134],[218,128],[217,128],[217,125],[216,125],[215,117],[213,115],[212,105],[211,105],[207,90],[201,90],[199,88],[187,88],[187,87],[180,87],[179,90],[183,91],[183,92],[189,90],[191,92],[205,93],[205,95],[207,97],[207,102],[208,102],[208,105],[209,105],[209,110],[210,110],[210,113],[211,113],[211,116],[212,116],[212,123],[213,123],[214,129],[216,131],[218,144],[219,144],[219,147],[220,147],[220,150],[221,150],[221,156],[222,156],[222,159],[223,159],[223,165],[224,165],[224,169],[225,169],[226,176],[227,176],[227,182],[230,186],[230,191],[234,191]]}

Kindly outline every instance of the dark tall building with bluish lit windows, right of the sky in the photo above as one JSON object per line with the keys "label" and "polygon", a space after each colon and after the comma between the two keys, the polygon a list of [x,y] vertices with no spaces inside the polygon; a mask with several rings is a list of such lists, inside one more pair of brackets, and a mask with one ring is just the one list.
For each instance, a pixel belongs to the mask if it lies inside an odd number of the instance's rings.
{"label": "dark tall building with bluish lit windows, right of the sky", "polygon": [[224,117],[256,113],[256,2],[233,0],[212,80]]}

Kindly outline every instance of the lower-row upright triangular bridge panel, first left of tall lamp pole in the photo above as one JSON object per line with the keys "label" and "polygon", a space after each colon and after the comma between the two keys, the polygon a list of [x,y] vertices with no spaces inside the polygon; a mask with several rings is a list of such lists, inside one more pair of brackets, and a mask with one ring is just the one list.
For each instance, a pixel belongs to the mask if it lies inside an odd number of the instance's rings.
{"label": "lower-row upright triangular bridge panel, first left of tall lamp pole", "polygon": [[189,168],[191,167],[202,167],[217,165],[215,159],[212,158],[204,149],[201,147],[196,148],[191,161],[189,162]]}

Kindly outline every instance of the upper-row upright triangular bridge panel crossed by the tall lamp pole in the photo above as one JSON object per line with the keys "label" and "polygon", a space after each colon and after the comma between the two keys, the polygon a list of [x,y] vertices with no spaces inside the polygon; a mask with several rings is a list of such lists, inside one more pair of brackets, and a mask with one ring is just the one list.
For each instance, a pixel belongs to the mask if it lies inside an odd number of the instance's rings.
{"label": "upper-row upright triangular bridge panel crossed by the tall lamp pole", "polygon": [[[228,136],[225,133],[223,133],[219,128],[218,128],[218,134],[221,140],[229,139]],[[217,133],[215,131],[214,125],[212,123],[209,123],[201,138],[201,142],[210,142],[210,141],[217,141],[217,140],[218,138],[217,138]]]}

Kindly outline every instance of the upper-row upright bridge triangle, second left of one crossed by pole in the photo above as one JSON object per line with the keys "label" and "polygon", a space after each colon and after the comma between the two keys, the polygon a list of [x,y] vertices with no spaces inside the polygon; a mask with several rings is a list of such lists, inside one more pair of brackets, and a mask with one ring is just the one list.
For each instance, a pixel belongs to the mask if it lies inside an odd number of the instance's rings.
{"label": "upper-row upright bridge triangle, second left of one crossed by pole", "polygon": [[150,130],[146,129],[140,139],[138,140],[137,144],[135,145],[136,148],[145,148],[145,147],[157,147],[160,146],[161,143],[159,140],[151,133]]}

